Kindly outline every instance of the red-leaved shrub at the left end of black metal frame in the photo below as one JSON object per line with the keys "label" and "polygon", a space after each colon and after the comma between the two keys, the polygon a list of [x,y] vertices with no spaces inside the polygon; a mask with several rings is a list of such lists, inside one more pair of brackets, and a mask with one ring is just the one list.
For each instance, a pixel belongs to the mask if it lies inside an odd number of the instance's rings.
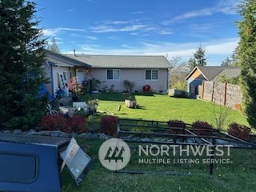
{"label": "red-leaved shrub at the left end of black metal frame", "polygon": [[106,115],[102,117],[100,122],[100,132],[114,136],[117,134],[118,117]]}

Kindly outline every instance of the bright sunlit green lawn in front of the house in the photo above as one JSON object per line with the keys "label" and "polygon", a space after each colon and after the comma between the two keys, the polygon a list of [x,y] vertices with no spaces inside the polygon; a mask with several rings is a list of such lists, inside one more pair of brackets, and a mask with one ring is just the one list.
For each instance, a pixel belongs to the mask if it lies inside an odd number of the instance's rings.
{"label": "bright sunlit green lawn in front of the house", "polygon": [[[119,118],[141,118],[155,121],[168,121],[170,119],[182,120],[186,123],[194,121],[206,121],[216,127],[214,121],[214,109],[218,114],[219,109],[227,112],[225,121],[226,128],[230,122],[238,122],[248,126],[246,118],[238,110],[227,110],[225,107],[214,105],[189,98],[172,98],[162,94],[135,94],[132,97],[139,104],[138,109],[131,109],[125,106],[126,94],[95,94],[98,98],[98,110],[101,113],[113,114]],[[118,111],[118,104],[121,110]]]}

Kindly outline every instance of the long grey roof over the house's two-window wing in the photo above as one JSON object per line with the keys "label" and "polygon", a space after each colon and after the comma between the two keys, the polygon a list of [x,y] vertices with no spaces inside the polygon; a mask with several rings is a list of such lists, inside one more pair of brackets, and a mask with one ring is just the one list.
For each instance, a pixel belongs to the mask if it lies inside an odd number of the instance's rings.
{"label": "long grey roof over the house's two-window wing", "polygon": [[138,55],[86,55],[65,54],[67,58],[86,63],[92,68],[170,68],[170,62],[164,56]]}

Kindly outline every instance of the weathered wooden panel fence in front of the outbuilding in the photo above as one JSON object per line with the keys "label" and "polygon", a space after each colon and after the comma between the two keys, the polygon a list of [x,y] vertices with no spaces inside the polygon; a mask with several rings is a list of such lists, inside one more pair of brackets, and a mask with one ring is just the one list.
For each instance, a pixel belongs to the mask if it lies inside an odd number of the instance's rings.
{"label": "weathered wooden panel fence in front of the outbuilding", "polygon": [[202,82],[198,87],[200,98],[223,106],[240,109],[242,93],[238,85],[222,82]]}

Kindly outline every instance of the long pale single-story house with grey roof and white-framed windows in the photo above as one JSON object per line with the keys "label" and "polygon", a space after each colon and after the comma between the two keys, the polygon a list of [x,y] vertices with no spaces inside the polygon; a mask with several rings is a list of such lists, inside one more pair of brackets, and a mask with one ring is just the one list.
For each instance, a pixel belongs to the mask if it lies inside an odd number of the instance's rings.
{"label": "long pale single-story house with grey roof and white-framed windows", "polygon": [[94,78],[101,82],[98,90],[112,87],[123,91],[124,80],[134,82],[133,91],[149,85],[155,92],[168,90],[170,62],[164,56],[56,54],[46,50],[44,63],[50,94],[67,90],[66,83],[77,77],[78,83]]}

